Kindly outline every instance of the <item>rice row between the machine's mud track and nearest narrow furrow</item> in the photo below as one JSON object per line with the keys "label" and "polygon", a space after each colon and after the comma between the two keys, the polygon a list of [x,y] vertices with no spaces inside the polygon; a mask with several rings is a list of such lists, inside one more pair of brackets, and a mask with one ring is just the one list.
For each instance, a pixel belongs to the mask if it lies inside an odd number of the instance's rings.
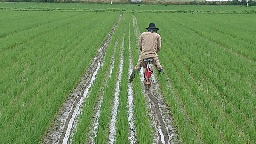
{"label": "rice row between the machine's mud track and nearest narrow furrow", "polygon": [[[138,53],[138,38],[140,32],[137,31],[138,29],[136,29],[137,21],[135,20],[135,18],[132,16],[130,20],[132,63],[133,66],[135,66],[140,56],[140,53]],[[136,128],[137,142],[152,143],[152,118],[150,118],[150,110],[148,110],[148,100],[144,97],[144,90],[140,81],[139,74],[137,74],[134,78],[132,90],[134,92],[134,125]]]}

